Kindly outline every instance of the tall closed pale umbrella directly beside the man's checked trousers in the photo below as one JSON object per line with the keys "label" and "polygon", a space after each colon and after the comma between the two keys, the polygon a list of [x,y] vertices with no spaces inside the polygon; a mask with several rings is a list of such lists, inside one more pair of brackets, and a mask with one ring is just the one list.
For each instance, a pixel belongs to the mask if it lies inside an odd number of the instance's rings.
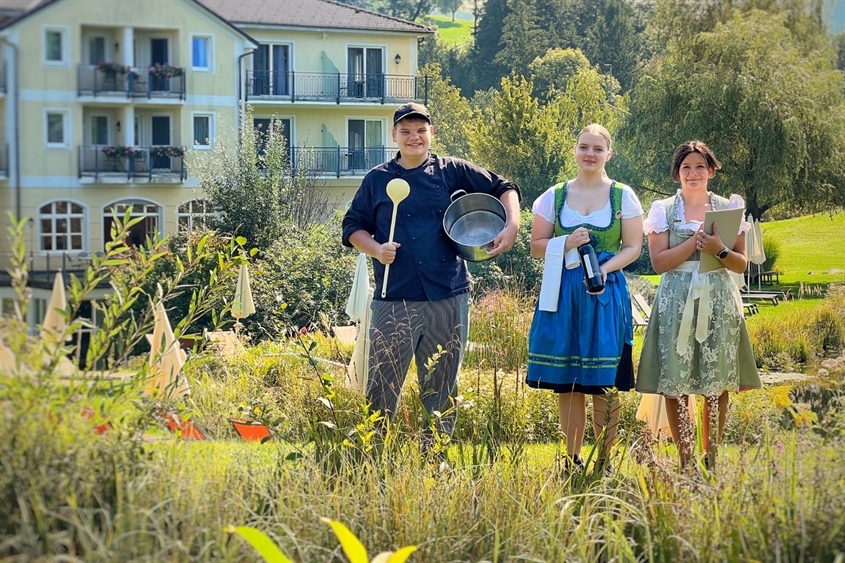
{"label": "tall closed pale umbrella directly beside the man's checked trousers", "polygon": [[347,373],[349,387],[362,395],[367,393],[367,378],[370,369],[370,304],[373,301],[373,288],[370,286],[370,274],[367,271],[367,255],[358,255],[352,291],[346,303],[346,314],[352,322],[358,324],[358,335],[352,349],[352,360]]}

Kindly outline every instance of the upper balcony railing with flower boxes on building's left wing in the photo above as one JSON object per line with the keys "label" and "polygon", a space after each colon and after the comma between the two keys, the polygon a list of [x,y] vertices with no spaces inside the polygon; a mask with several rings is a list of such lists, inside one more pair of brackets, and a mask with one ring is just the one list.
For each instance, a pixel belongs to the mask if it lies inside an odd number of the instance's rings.
{"label": "upper balcony railing with flower boxes on building's left wing", "polygon": [[79,65],[79,95],[125,96],[126,98],[185,99],[185,74],[162,78],[146,69],[132,68],[127,73],[107,72],[97,65]]}

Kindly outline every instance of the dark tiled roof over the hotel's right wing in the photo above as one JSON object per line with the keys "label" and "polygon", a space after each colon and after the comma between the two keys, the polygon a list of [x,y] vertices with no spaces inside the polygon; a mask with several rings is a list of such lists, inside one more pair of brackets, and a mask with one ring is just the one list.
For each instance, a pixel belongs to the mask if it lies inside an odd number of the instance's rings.
{"label": "dark tiled roof over the hotel's right wing", "polygon": [[[4,0],[5,1],[5,0]],[[430,34],[432,28],[332,0],[198,0],[232,23]]]}

